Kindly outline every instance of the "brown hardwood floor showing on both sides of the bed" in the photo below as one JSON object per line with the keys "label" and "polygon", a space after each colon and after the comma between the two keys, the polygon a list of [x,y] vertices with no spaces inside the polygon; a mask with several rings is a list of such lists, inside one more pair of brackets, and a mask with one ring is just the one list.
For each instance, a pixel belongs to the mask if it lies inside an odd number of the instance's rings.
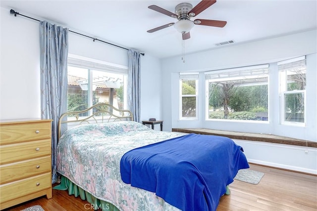
{"label": "brown hardwood floor showing on both sides of the bed", "polygon": [[[257,185],[234,180],[231,194],[222,196],[217,211],[317,211],[317,176],[250,164],[264,172]],[[90,205],[67,191],[53,190],[53,198],[41,197],[4,211],[21,211],[41,205],[45,211],[87,211]]]}

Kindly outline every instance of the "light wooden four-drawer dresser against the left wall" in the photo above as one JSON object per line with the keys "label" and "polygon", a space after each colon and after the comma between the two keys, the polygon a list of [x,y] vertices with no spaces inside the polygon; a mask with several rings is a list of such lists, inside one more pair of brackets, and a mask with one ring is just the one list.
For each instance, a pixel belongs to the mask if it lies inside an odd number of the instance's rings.
{"label": "light wooden four-drawer dresser against the left wall", "polygon": [[0,209],[52,198],[52,120],[0,121]]}

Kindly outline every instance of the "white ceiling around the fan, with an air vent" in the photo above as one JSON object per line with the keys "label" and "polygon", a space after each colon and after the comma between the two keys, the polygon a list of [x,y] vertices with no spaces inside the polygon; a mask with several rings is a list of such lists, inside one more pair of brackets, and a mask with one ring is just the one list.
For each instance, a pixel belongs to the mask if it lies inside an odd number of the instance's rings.
{"label": "white ceiling around the fan, with an air vent", "polygon": [[[195,6],[200,0],[1,0],[1,7],[165,58],[181,54],[181,34],[173,26],[147,33],[176,21],[148,6],[155,4],[174,13],[181,2]],[[186,53],[219,47],[218,42],[239,44],[317,29],[317,1],[217,0],[191,20],[198,18],[223,20],[227,25],[195,25],[185,41]]]}

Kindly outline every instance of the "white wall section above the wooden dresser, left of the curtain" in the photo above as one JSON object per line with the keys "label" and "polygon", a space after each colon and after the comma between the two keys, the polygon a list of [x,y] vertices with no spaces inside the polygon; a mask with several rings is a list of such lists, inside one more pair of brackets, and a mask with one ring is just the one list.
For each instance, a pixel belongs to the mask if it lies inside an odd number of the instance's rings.
{"label": "white wall section above the wooden dresser, left of the curtain", "polygon": [[0,119],[39,118],[39,23],[1,7]]}

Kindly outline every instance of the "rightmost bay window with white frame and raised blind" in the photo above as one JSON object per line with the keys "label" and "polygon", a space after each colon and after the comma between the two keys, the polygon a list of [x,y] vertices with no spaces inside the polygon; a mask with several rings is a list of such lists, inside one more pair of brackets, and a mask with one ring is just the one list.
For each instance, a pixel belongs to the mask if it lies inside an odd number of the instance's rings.
{"label": "rightmost bay window with white frame and raised blind", "polygon": [[277,63],[280,78],[281,123],[305,125],[306,58]]}

